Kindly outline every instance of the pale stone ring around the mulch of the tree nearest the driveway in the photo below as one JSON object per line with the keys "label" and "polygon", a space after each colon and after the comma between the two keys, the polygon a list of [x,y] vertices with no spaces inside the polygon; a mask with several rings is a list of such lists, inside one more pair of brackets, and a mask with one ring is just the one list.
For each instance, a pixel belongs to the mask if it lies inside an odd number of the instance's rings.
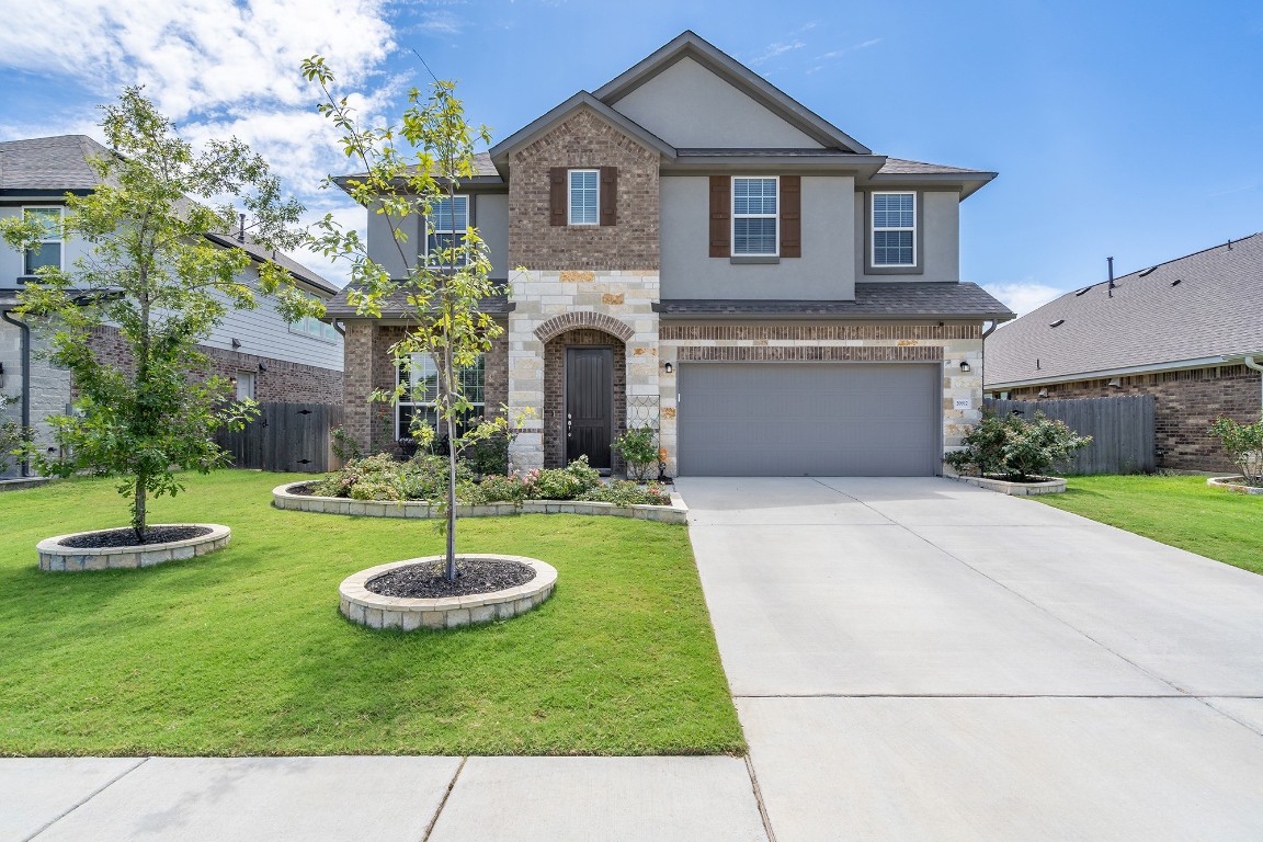
{"label": "pale stone ring around the mulch of the tree nearest the driveway", "polygon": [[536,577],[514,588],[453,596],[429,600],[381,596],[373,593],[368,583],[374,578],[400,567],[442,560],[443,555],[410,558],[405,562],[379,564],[360,571],[342,579],[337,592],[341,597],[338,610],[351,622],[370,629],[455,629],[476,622],[508,620],[525,614],[552,596],[557,584],[557,568],[537,558],[524,555],[499,555],[488,553],[461,553],[457,559],[488,558],[504,562],[518,562],[534,568]]}

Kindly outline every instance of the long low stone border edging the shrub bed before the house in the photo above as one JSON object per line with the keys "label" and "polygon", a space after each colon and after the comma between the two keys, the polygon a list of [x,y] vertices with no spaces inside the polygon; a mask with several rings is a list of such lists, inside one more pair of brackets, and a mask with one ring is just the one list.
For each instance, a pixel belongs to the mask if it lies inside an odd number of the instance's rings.
{"label": "long low stone border edging the shrub bed before the house", "polygon": [[[272,490],[272,505],[293,511],[318,511],[327,515],[359,515],[364,518],[438,518],[438,506],[423,500],[395,502],[393,500],[350,500],[347,497],[313,497],[290,494],[289,489],[306,482],[287,482]],[[457,504],[457,518],[509,518],[513,515],[610,515],[635,518],[663,524],[687,524],[688,506],[683,497],[671,492],[669,506],[616,506],[613,502],[584,502],[578,500],[527,500],[522,506],[512,502],[489,502],[481,506]]]}

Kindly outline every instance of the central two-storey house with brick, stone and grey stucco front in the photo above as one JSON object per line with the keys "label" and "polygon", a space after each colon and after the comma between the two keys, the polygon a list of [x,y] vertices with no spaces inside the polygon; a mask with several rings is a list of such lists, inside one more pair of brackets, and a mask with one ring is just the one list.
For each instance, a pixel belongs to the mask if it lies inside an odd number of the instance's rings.
{"label": "central two-storey house with brick, stone and grey stucco front", "polygon": [[[650,424],[669,473],[935,475],[980,418],[984,322],[1013,317],[959,275],[960,202],[991,178],[874,154],[686,32],[480,155],[407,259],[466,223],[488,242],[506,331],[470,381],[533,410],[518,468],[618,470],[611,438]],[[403,273],[380,215],[369,247]],[[328,308],[362,443],[416,412],[368,401],[399,314]]]}

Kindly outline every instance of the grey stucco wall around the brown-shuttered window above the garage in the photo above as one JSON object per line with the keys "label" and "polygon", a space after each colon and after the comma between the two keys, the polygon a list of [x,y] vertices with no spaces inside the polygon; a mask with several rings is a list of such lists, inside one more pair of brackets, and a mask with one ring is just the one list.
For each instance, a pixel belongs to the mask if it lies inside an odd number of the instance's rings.
{"label": "grey stucco wall around the brown-shuttered window above the garage", "polygon": [[[754,173],[751,173],[754,174]],[[710,256],[710,179],[667,175],[662,198],[662,298],[835,300],[855,297],[855,179],[802,178],[802,256],[734,264]]]}

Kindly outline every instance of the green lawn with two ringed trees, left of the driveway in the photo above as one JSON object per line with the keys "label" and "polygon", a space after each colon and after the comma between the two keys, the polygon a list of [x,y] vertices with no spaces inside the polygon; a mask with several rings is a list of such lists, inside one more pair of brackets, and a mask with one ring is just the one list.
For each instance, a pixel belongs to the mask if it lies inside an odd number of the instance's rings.
{"label": "green lawn with two ringed trees, left of the driveway", "polygon": [[458,549],[553,564],[522,617],[370,631],[337,586],[441,552],[422,521],[278,511],[288,477],[222,471],[153,523],[232,528],[218,553],[42,573],[35,543],[121,526],[107,481],[0,494],[0,755],[721,754],[745,749],[685,526],[466,520]]}

